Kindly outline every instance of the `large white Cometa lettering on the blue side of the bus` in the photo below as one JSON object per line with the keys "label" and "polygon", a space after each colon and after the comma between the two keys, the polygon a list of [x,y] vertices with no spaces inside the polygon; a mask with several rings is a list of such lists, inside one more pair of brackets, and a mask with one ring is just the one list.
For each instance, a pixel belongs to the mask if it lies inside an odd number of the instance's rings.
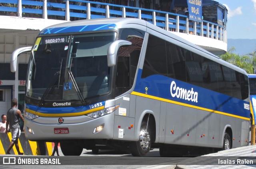
{"label": "large white Cometa lettering on the blue side of the bus", "polygon": [[191,88],[191,90],[187,90],[176,86],[176,83],[172,81],[170,89],[172,97],[177,97],[188,101],[194,101],[197,103],[198,93],[193,91],[193,88]]}

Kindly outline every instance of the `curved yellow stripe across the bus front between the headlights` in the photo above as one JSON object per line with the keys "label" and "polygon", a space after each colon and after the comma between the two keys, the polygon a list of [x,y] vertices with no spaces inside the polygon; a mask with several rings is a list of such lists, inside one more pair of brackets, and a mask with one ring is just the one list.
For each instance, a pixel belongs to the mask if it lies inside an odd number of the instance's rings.
{"label": "curved yellow stripe across the bus front between the headlights", "polygon": [[92,113],[94,111],[102,110],[102,109],[104,109],[104,106],[96,107],[94,109],[90,109],[90,110],[86,110],[86,111],[81,111],[81,112],[78,112],[78,113],[58,113],[58,114],[40,113],[40,112],[30,110],[30,109],[26,109],[26,111],[28,113],[32,113],[34,115],[43,116],[43,117],[60,117],[60,116],[61,117],[69,117],[69,116],[86,115],[86,114]]}

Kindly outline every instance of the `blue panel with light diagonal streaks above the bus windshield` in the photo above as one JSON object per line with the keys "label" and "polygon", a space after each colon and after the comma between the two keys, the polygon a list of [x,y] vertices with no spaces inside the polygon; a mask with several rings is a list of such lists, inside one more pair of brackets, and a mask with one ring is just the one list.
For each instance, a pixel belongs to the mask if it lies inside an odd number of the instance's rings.
{"label": "blue panel with light diagonal streaks above the bus windshield", "polygon": [[113,30],[116,29],[116,24],[99,24],[99,25],[81,25],[81,26],[68,26],[58,28],[47,28],[42,30],[39,35],[69,33],[69,32],[86,32],[95,30]]}

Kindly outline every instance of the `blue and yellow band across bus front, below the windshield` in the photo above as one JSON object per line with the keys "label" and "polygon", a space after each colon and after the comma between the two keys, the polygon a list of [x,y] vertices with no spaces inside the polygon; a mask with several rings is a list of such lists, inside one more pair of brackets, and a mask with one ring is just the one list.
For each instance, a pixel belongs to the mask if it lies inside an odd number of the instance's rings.
{"label": "blue and yellow band across bus front, below the windshield", "polygon": [[[105,101],[99,102],[95,104],[79,106],[79,107],[38,107],[35,105],[26,105],[26,111],[29,113],[33,113],[36,115],[45,115],[45,116],[54,116],[54,115],[65,115],[72,116],[72,114],[76,113],[79,115],[84,115],[91,113],[93,111],[97,111],[98,109],[104,109]],[[102,108],[101,108],[102,107]]]}

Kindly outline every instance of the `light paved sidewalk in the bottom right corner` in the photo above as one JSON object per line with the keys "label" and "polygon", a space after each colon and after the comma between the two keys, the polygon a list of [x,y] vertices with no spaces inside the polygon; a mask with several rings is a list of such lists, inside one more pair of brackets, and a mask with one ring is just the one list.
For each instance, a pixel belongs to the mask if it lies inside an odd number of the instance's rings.
{"label": "light paved sidewalk in the bottom right corner", "polygon": [[[238,161],[240,164],[238,165]],[[244,162],[245,161],[245,162]],[[220,163],[220,164],[219,164]],[[225,165],[222,165],[222,164]],[[228,164],[226,164],[228,163]],[[231,163],[231,164],[230,164]],[[235,164],[232,164],[235,163]],[[246,163],[246,164],[243,164]],[[219,164],[219,165],[218,165]],[[256,146],[219,151],[177,163],[175,169],[255,169]]]}

